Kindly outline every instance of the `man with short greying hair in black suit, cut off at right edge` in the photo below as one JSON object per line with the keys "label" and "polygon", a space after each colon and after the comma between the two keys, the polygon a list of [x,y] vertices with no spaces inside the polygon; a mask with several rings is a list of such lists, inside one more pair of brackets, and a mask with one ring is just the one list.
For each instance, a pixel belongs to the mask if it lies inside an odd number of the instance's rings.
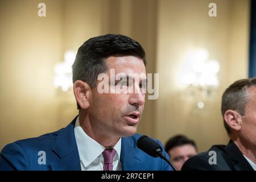
{"label": "man with short greying hair in black suit, cut off at right edge", "polygon": [[238,80],[225,90],[221,113],[228,145],[193,156],[182,170],[256,170],[256,77]]}

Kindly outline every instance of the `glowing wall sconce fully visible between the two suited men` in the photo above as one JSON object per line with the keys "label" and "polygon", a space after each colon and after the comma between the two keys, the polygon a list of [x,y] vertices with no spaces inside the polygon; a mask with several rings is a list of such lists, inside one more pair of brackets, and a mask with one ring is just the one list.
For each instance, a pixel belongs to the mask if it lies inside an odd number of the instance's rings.
{"label": "glowing wall sconce fully visible between the two suited men", "polygon": [[219,85],[217,73],[220,71],[220,64],[208,57],[209,52],[206,49],[189,53],[180,73],[181,84],[185,85],[186,92],[197,100],[199,109],[205,106],[204,100],[207,100]]}

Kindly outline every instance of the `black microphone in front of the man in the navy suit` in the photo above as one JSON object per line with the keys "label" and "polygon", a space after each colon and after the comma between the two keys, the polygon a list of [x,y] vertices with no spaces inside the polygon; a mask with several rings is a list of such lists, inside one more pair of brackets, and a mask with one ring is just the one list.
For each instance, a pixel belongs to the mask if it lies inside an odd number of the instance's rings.
{"label": "black microphone in front of the man in the navy suit", "polygon": [[137,140],[137,146],[139,149],[146,152],[146,154],[148,154],[154,158],[159,157],[161,159],[164,159],[174,169],[174,171],[176,171],[175,167],[172,166],[170,161],[168,159],[166,159],[166,157],[163,155],[163,153],[162,153],[163,149],[160,146],[160,144],[158,142],[156,142],[155,140],[147,137],[146,135],[142,135]]}

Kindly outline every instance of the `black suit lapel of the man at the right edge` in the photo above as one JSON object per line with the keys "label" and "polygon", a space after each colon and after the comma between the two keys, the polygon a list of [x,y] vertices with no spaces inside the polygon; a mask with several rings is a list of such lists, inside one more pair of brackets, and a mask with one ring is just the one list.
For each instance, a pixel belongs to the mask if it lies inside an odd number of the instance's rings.
{"label": "black suit lapel of the man at the right edge", "polygon": [[225,147],[225,151],[229,158],[234,162],[234,168],[237,171],[253,171],[253,168],[243,157],[239,148],[230,140],[229,144]]}

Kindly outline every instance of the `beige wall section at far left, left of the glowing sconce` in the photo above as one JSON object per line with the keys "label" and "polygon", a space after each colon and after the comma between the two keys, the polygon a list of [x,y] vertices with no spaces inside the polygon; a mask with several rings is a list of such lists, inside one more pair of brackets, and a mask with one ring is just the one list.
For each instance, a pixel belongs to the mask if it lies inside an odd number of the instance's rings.
{"label": "beige wall section at far left, left of the glowing sconce", "polygon": [[0,1],[0,148],[61,125],[52,85],[53,65],[61,57],[61,1]]}

